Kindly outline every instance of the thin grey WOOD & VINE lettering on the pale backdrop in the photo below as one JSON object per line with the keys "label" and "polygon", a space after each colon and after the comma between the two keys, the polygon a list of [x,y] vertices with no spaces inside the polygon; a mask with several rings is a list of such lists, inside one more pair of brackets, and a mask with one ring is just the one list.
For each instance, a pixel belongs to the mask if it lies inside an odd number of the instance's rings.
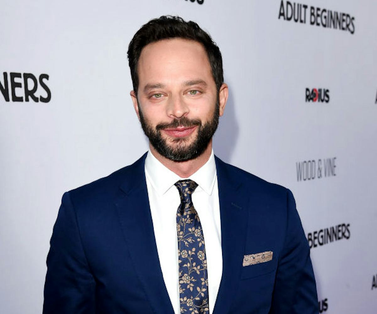
{"label": "thin grey WOOD & VINE lettering on the pale backdrop", "polygon": [[297,161],[297,181],[310,181],[316,178],[321,179],[336,176],[335,162],[336,157]]}

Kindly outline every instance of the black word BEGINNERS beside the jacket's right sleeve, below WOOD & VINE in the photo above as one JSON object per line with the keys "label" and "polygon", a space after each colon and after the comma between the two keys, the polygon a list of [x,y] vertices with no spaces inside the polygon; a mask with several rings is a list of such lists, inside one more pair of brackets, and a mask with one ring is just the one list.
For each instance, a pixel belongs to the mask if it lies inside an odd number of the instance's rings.
{"label": "black word BEGINNERS beside the jacket's right sleeve, below WOOD & VINE", "polygon": [[321,229],[308,233],[308,242],[310,248],[316,248],[329,244],[333,241],[349,239],[351,237],[350,224],[339,224],[334,227]]}

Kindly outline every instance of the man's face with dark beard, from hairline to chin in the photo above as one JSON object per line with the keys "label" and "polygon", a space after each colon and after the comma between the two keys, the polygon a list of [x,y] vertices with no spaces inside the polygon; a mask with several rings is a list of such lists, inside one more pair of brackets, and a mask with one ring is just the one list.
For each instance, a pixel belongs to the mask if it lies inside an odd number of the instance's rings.
{"label": "man's face with dark beard, from hairline to chin", "polygon": [[192,40],[148,44],[138,61],[137,98],[131,93],[144,133],[156,151],[173,161],[201,155],[224,106],[204,47]]}

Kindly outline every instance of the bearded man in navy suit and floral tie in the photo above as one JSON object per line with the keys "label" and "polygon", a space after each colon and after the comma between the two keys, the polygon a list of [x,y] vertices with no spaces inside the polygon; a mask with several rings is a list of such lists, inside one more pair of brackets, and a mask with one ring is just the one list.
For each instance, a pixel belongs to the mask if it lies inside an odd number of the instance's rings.
{"label": "bearded man in navy suit and floral tie", "polygon": [[317,313],[292,193],[213,155],[228,87],[211,37],[161,17],[128,57],[150,150],[64,194],[44,313]]}

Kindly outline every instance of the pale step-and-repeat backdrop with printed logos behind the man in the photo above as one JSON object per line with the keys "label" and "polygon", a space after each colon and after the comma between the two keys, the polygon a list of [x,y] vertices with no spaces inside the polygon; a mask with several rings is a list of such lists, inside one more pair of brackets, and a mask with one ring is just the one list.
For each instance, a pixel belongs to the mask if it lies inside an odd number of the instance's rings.
{"label": "pale step-and-repeat backdrop with printed logos behind the man", "polygon": [[293,191],[319,312],[377,312],[377,2],[2,4],[1,313],[41,313],[64,191],[147,150],[126,51],[167,14],[196,21],[220,47],[230,98],[215,153]]}

